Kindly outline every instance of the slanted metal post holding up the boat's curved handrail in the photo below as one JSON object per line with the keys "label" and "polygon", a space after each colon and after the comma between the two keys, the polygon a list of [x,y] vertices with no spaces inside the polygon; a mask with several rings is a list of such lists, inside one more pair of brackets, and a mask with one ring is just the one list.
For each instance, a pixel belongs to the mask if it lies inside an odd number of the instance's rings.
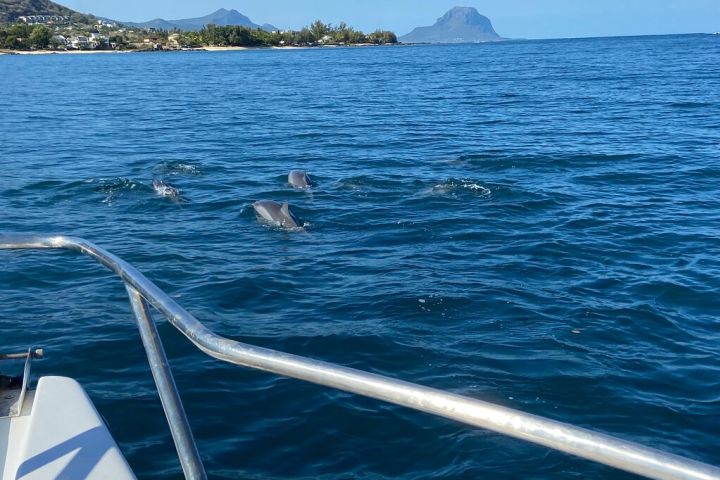
{"label": "slanted metal post holding up the boat's curved handrail", "polygon": [[158,334],[152,314],[147,302],[140,293],[133,287],[125,286],[130,297],[135,319],[137,320],[140,338],[142,339],[145,352],[147,353],[150,371],[152,372],[155,385],[157,386],[160,402],[162,403],[165,416],[167,417],[170,433],[175,442],[175,449],[178,452],[180,465],[182,466],[185,478],[192,480],[206,480],[205,468],[203,467],[200,454],[193,439],[192,430],[185,415],[180,394],[175,386],[170,365],[168,364],[165,350],[163,349],[160,335]]}

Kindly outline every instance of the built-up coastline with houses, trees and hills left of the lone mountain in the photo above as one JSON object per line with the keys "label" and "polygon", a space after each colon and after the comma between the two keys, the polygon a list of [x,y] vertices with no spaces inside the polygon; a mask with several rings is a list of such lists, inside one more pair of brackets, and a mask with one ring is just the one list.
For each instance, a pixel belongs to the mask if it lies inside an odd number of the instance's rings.
{"label": "built-up coastline with houses, trees and hills left of the lone mountain", "polygon": [[397,43],[395,33],[364,33],[347,24],[313,22],[300,30],[258,25],[236,10],[205,17],[119,22],[49,0],[0,0],[0,53],[156,51],[250,47],[319,47]]}

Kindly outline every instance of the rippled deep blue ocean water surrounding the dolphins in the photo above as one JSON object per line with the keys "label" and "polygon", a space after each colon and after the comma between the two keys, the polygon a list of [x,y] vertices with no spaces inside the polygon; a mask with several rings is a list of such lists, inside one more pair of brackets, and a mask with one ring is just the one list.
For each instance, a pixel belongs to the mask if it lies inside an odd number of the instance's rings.
{"label": "rippled deep blue ocean water surrounding the dolphins", "polygon": [[[710,35],[2,56],[0,231],[85,237],[231,338],[718,465],[718,92]],[[45,347],[140,477],[179,478],[122,284],[0,265],[2,350]],[[212,478],[632,478],[159,329]]]}

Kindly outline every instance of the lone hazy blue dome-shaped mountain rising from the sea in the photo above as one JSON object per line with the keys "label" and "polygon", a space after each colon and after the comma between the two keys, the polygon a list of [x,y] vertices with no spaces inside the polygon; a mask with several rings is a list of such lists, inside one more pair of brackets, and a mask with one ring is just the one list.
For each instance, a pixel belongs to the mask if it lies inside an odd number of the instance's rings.
{"label": "lone hazy blue dome-shaped mountain rising from the sea", "polygon": [[417,27],[398,40],[403,43],[478,43],[505,40],[490,19],[472,7],[455,7],[431,27]]}

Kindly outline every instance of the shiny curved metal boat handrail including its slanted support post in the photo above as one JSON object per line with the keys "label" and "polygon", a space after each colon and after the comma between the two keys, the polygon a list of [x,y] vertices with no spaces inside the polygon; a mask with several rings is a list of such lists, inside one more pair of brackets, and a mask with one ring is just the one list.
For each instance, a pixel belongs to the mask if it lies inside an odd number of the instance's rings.
{"label": "shiny curved metal boat handrail including its slanted support post", "polygon": [[[163,313],[200,350],[226,362],[432,413],[648,478],[720,480],[720,468],[610,435],[482,400],[221,337],[206,328],[132,265],[88,241],[65,236],[0,236],[0,249],[40,248],[84,253],[115,272],[125,282],[187,478],[204,478],[205,473],[145,302]],[[143,328],[149,330],[143,332]],[[172,398],[177,400],[177,405]],[[172,411],[173,408],[176,410]],[[194,455],[192,451],[187,451],[187,445],[191,446],[190,450],[194,450]]]}

